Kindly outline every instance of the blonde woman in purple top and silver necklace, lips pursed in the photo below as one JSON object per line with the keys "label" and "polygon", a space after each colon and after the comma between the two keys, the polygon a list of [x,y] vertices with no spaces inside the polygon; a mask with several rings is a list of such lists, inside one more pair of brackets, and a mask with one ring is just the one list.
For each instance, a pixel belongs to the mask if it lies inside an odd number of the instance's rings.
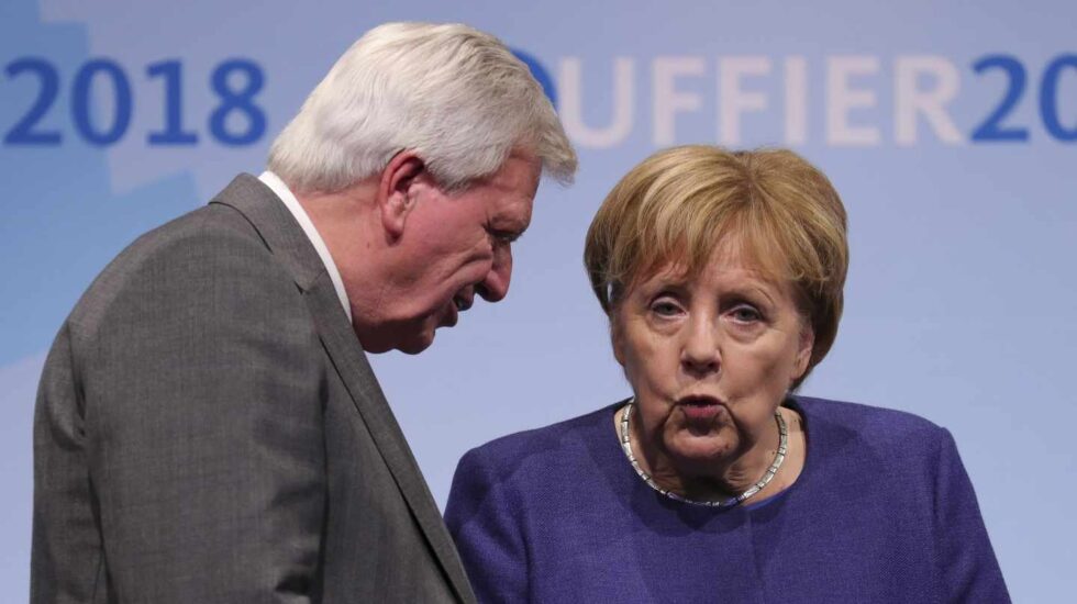
{"label": "blonde woman in purple top and silver necklace, lips pursed", "polygon": [[585,261],[634,395],[460,461],[446,517],[481,601],[1009,601],[948,432],[791,393],[848,264],[819,170],[658,153]]}

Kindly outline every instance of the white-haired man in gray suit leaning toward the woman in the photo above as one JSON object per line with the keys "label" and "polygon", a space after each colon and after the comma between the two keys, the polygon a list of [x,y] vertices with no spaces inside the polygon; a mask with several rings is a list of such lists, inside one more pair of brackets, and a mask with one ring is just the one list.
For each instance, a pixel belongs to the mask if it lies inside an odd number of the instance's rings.
{"label": "white-haired man in gray suit leaning toward the woman", "polygon": [[34,427],[37,602],[469,602],[364,350],[501,300],[575,154],[462,25],[352,46],[269,170],[141,237],[62,327]]}

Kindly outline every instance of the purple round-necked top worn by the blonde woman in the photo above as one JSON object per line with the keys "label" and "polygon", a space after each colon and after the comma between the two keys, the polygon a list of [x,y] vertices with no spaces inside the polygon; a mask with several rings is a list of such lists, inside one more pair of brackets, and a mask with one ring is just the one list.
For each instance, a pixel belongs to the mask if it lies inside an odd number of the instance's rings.
{"label": "purple round-necked top worn by the blonde woman", "polygon": [[718,511],[664,497],[621,403],[469,451],[446,522],[480,602],[1009,602],[950,433],[804,396],[797,482]]}

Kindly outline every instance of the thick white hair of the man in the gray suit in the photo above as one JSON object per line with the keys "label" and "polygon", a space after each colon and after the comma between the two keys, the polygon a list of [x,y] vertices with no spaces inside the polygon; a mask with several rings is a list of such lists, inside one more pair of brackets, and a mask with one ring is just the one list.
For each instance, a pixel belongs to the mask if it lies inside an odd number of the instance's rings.
{"label": "thick white hair of the man in the gray suit", "polygon": [[387,23],[336,61],[269,149],[297,191],[332,192],[411,149],[447,190],[496,172],[515,149],[562,182],[576,153],[528,66],[460,24]]}

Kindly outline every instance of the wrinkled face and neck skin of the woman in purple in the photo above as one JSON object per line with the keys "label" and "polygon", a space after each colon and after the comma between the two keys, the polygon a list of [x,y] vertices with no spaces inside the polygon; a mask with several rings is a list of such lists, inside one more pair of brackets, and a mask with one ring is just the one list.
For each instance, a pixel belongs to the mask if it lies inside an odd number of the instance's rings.
{"label": "wrinkled face and neck skin of the woman in purple", "polygon": [[777,447],[774,413],[811,355],[791,288],[719,245],[693,278],[666,266],[634,284],[612,318],[636,398],[632,437],[655,480],[702,499],[758,480]]}

